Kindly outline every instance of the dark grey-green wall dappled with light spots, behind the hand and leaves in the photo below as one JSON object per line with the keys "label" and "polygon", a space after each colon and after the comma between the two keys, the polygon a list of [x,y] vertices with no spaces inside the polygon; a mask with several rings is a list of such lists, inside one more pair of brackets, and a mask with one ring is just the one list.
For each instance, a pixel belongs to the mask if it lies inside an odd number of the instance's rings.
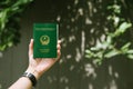
{"label": "dark grey-green wall dappled with light spots, behind the hand and leaves", "polygon": [[101,6],[106,4],[100,3],[99,0],[35,0],[22,14],[21,42],[0,58],[1,89],[7,89],[28,67],[28,44],[34,22],[60,23],[62,40],[61,60],[44,73],[37,89],[133,89],[133,60],[116,57],[98,67],[84,57],[85,49],[104,32]]}

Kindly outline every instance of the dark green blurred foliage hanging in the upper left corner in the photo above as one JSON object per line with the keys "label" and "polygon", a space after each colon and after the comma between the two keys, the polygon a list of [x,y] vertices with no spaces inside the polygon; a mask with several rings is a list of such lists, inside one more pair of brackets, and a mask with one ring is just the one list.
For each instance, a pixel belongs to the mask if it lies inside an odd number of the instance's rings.
{"label": "dark green blurred foliage hanging in the upper left corner", "polygon": [[0,51],[20,41],[20,16],[33,0],[0,1]]}

